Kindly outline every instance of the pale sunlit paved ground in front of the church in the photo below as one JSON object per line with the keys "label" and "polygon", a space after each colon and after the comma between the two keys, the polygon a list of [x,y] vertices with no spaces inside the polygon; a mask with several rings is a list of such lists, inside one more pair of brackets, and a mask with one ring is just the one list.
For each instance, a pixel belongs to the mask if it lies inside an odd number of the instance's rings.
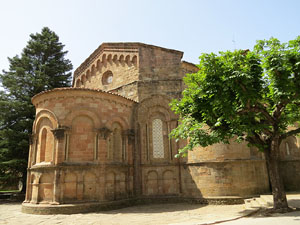
{"label": "pale sunlit paved ground in front of the church", "polygon": [[[293,205],[300,205],[300,195],[290,197]],[[253,209],[252,209],[253,210]],[[20,203],[0,204],[0,224],[103,224],[103,225],[196,225],[222,222],[236,224],[300,224],[300,212],[273,214],[272,217],[250,216],[245,205],[152,204],[128,207],[109,212],[73,215],[31,215],[21,212]],[[239,218],[239,219],[238,219]],[[225,222],[228,221],[229,222]]]}

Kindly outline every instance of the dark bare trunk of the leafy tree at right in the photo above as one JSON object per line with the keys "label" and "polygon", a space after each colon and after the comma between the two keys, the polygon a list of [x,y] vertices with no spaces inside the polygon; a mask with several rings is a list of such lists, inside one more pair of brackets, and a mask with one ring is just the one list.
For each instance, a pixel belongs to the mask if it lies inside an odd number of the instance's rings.
{"label": "dark bare trunk of the leafy tree at right", "polygon": [[269,171],[274,209],[282,212],[288,211],[286,193],[283,186],[283,180],[279,170],[279,144],[278,140],[273,140],[268,149],[264,151]]}

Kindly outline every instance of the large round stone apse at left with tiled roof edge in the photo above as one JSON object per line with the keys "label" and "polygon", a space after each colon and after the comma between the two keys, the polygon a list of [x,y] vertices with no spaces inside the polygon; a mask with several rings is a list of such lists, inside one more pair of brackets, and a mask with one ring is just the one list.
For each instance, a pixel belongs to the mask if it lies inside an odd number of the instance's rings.
{"label": "large round stone apse at left with tiled roof edge", "polygon": [[[29,153],[27,202],[86,202],[132,196],[131,118],[135,102],[101,91],[62,88],[35,96],[33,103],[36,120]],[[54,138],[43,142],[40,130],[45,129],[46,136]],[[39,156],[43,145],[45,155],[53,156],[51,160]]]}

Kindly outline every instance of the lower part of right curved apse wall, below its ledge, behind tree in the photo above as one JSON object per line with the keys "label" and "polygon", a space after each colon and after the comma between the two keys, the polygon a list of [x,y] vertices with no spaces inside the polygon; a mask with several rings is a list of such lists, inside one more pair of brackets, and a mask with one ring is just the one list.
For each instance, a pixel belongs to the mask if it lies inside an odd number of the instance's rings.
{"label": "lower part of right curved apse wall, below its ledge, behind tree", "polygon": [[247,197],[269,192],[264,160],[187,163],[182,174],[186,197]]}

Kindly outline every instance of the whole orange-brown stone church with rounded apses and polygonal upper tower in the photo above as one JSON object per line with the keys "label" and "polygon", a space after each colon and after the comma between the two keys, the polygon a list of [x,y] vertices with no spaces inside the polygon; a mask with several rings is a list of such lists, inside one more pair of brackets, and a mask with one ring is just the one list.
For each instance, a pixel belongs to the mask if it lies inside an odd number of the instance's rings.
{"label": "whole orange-brown stone church with rounded apses and polygonal upper tower", "polygon": [[[216,144],[175,158],[185,140],[169,102],[198,68],[183,52],[103,43],[76,69],[72,88],[32,98],[27,213],[74,213],[155,201],[238,200],[269,192],[266,163],[245,143]],[[299,139],[281,146],[287,190],[299,190]],[[293,175],[291,175],[293,174]]]}

